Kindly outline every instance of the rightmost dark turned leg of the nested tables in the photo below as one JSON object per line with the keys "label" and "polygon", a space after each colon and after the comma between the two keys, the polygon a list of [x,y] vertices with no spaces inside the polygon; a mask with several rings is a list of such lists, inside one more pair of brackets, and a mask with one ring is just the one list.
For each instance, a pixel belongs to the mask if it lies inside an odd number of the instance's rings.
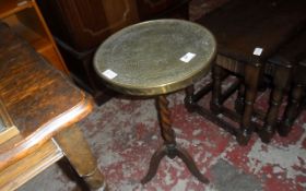
{"label": "rightmost dark turned leg of the nested tables", "polygon": [[297,84],[293,87],[289,97],[289,103],[278,132],[281,136],[286,136],[292,129],[293,122],[301,110],[302,97],[305,92],[305,86]]}

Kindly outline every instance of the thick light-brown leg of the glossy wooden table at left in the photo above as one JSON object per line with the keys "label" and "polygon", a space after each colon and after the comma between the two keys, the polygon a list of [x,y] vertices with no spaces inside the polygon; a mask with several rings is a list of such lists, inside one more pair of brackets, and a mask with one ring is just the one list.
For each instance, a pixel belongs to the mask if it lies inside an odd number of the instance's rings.
{"label": "thick light-brown leg of the glossy wooden table at left", "polygon": [[72,126],[56,135],[56,141],[63,151],[78,175],[84,179],[91,189],[107,190],[103,174],[97,167],[95,157],[76,126]]}

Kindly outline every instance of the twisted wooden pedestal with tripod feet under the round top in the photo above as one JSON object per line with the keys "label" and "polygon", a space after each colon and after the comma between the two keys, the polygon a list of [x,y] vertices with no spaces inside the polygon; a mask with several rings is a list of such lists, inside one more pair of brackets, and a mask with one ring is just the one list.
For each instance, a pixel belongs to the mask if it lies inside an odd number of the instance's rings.
{"label": "twisted wooden pedestal with tripod feet under the round top", "polygon": [[149,182],[156,175],[160,162],[164,156],[168,156],[169,158],[178,156],[195,177],[201,182],[208,183],[209,180],[200,172],[188,152],[176,144],[175,132],[172,128],[170,111],[168,109],[168,100],[165,95],[157,97],[156,107],[164,144],[153,154],[148,174],[141,180],[141,183]]}

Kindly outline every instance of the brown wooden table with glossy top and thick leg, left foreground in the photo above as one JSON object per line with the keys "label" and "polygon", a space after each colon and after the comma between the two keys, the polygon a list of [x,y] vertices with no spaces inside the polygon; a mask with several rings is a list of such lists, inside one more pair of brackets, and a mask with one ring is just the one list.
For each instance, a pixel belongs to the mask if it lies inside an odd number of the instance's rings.
{"label": "brown wooden table with glossy top and thick leg, left foreground", "polygon": [[20,131],[0,145],[0,190],[15,190],[64,156],[91,188],[105,186],[74,126],[92,110],[91,97],[3,23],[0,36],[0,96]]}

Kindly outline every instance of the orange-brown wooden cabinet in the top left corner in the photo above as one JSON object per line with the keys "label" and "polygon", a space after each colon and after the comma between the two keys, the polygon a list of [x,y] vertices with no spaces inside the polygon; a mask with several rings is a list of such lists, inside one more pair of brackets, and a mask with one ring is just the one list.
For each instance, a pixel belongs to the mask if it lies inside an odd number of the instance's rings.
{"label": "orange-brown wooden cabinet in the top left corner", "polygon": [[0,21],[26,39],[57,69],[68,73],[35,0],[0,0]]}

